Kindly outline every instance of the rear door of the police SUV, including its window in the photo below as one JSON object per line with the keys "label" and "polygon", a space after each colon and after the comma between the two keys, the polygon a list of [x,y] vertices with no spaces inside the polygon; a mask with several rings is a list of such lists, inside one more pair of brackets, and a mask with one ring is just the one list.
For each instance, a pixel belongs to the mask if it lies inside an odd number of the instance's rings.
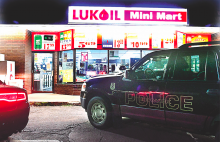
{"label": "rear door of the police SUV, including its window", "polygon": [[217,54],[198,48],[176,54],[166,85],[166,122],[201,130],[218,112]]}

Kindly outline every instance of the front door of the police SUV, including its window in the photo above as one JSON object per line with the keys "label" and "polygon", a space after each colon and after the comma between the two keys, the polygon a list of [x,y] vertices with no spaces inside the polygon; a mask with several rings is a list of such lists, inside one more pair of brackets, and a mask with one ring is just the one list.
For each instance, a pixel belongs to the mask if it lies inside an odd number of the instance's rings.
{"label": "front door of the police SUV, including its window", "polygon": [[165,74],[171,52],[150,53],[132,68],[133,79],[122,79],[122,116],[165,123]]}

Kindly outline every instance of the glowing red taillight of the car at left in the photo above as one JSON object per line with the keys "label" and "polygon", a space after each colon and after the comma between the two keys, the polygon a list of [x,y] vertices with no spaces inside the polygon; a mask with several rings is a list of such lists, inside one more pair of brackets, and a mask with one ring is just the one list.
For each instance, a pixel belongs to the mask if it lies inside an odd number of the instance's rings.
{"label": "glowing red taillight of the car at left", "polygon": [[4,93],[0,94],[0,101],[20,101],[26,100],[25,93]]}

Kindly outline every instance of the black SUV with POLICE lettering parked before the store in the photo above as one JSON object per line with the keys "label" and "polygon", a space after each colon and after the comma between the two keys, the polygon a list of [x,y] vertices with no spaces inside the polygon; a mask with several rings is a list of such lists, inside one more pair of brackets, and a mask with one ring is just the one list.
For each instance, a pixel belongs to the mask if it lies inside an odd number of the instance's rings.
{"label": "black SUV with POLICE lettering parked before the store", "polygon": [[129,117],[219,140],[219,45],[191,43],[154,51],[125,73],[87,80],[80,98],[90,123],[102,129]]}

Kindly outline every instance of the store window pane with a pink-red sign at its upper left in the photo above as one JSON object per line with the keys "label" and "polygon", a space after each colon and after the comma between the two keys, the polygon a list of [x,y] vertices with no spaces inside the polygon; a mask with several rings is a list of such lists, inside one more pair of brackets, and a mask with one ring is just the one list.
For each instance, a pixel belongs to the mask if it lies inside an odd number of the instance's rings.
{"label": "store window pane with a pink-red sign at its upper left", "polygon": [[107,50],[76,50],[76,82],[107,73]]}

